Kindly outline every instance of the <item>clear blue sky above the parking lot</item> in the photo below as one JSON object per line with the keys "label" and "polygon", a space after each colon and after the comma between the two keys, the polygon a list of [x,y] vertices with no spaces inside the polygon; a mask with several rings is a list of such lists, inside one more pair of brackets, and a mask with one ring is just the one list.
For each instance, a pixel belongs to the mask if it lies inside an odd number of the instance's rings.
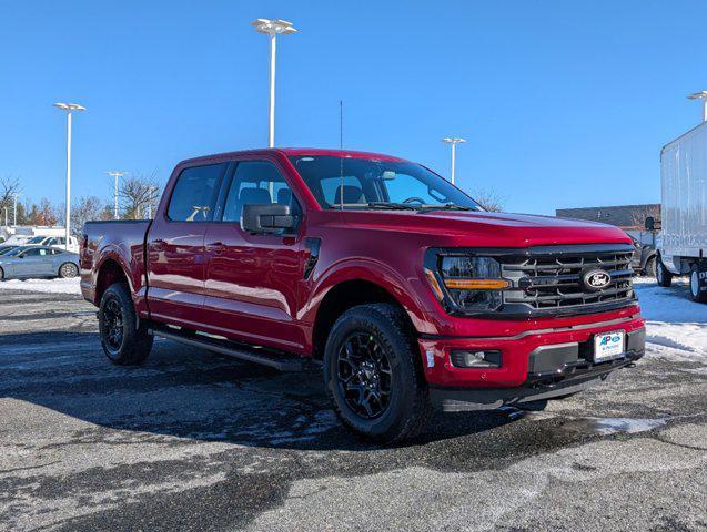
{"label": "clear blue sky above the parking lot", "polygon": [[276,144],[344,143],[493,188],[508,211],[659,201],[660,146],[699,122],[700,1],[2,0],[0,175],[63,201],[110,198],[107,170],[166,180],[182,158],[267,141],[267,39],[279,41]]}

